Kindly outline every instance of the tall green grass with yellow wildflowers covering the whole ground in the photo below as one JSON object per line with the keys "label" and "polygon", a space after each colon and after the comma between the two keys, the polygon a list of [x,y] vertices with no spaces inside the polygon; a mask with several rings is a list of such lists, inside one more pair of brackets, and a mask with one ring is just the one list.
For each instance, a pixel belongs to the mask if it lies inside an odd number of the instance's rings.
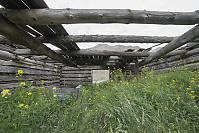
{"label": "tall green grass with yellow wildflowers covering the whole ground", "polygon": [[41,88],[22,86],[6,96],[0,98],[5,133],[199,132],[199,71],[150,71],[124,79],[115,70],[111,80],[85,86],[78,100],[67,97],[63,105]]}

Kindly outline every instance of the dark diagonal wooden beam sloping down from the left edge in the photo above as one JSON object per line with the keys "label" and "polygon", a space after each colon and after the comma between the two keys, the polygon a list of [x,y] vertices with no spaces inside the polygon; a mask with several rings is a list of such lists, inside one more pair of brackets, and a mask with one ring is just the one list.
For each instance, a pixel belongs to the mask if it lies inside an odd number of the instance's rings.
{"label": "dark diagonal wooden beam sloping down from the left edge", "polygon": [[28,48],[46,55],[54,60],[62,62],[70,66],[76,66],[74,63],[66,60],[63,56],[57,54],[40,41],[34,39],[31,35],[20,29],[17,25],[8,21],[4,16],[0,15],[0,34],[11,41],[25,45]]}

